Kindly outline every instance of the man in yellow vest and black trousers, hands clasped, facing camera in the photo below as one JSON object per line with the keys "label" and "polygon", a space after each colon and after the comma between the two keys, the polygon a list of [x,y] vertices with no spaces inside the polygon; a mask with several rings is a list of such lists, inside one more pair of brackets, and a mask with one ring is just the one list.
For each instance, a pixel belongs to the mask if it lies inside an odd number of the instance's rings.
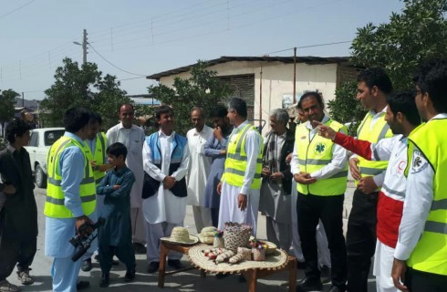
{"label": "man in yellow vest and black trousers, hands clasped, facing camera", "polygon": [[317,92],[305,93],[300,102],[308,120],[296,128],[291,171],[297,183],[298,233],[307,266],[306,278],[296,291],[321,290],[316,241],[316,227],[318,220],[321,220],[327,235],[332,268],[332,287],[328,291],[344,292],[347,263],[342,213],[348,182],[348,154],[334,142],[319,137],[312,121],[320,121],[344,133],[347,129],[325,115],[323,99]]}

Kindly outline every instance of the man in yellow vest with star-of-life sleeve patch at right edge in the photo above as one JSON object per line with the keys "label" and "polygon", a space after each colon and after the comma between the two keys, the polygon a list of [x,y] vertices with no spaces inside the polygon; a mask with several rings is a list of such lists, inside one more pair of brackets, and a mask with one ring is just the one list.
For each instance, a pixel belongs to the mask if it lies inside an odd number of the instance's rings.
{"label": "man in yellow vest with star-of-life sleeve patch at right edge", "polygon": [[447,59],[423,64],[413,81],[424,123],[408,139],[407,194],[391,276],[402,291],[445,291]]}

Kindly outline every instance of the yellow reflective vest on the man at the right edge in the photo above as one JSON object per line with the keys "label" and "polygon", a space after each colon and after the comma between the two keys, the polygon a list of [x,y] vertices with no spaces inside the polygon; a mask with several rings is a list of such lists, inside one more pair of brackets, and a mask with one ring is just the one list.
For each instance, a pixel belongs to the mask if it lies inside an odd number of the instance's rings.
{"label": "yellow reflective vest on the man at the right edge", "polygon": [[[409,162],[417,163],[414,147],[427,158],[434,172],[433,201],[421,239],[407,265],[413,269],[447,276],[447,119],[430,120],[409,136]],[[414,159],[414,161],[413,161]],[[409,165],[411,163],[408,163]],[[415,174],[418,175],[418,174]]]}

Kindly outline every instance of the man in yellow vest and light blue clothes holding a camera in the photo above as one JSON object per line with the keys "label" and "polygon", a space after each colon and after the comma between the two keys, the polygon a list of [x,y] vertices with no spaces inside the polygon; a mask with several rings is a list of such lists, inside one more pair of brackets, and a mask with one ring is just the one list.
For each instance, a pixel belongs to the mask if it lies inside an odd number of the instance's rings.
{"label": "man in yellow vest and light blue clothes holding a camera", "polygon": [[[88,162],[88,110],[71,108],[64,116],[65,134],[50,148],[47,157],[45,254],[54,257],[53,291],[76,291],[88,287],[79,282],[81,260],[73,262],[75,246],[68,239],[92,232],[89,218],[96,208],[96,186]],[[82,227],[82,228],[81,228]]]}

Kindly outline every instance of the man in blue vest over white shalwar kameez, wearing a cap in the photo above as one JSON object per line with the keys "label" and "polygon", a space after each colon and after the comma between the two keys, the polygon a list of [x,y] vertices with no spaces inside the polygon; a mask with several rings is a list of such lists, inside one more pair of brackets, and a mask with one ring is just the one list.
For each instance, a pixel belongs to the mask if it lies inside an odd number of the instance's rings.
{"label": "man in blue vest over white shalwar kameez, wearing a cap", "polygon": [[[143,145],[144,172],[151,188],[143,192],[142,209],[147,224],[148,273],[160,266],[160,238],[170,236],[175,226],[182,226],[186,215],[186,182],[189,151],[186,139],[173,131],[173,111],[161,106],[156,111],[160,130]],[[145,179],[145,180],[146,180]],[[182,268],[182,254],[169,253],[168,266]]]}

